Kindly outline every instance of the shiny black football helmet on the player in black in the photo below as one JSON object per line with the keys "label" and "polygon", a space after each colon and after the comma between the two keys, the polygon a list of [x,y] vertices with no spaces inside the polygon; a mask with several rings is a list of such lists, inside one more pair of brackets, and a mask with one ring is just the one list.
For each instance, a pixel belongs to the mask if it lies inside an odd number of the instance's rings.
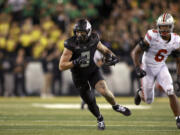
{"label": "shiny black football helmet on the player in black", "polygon": [[[87,19],[80,19],[74,26],[73,29],[76,39],[80,42],[85,42],[91,35],[92,27]],[[85,32],[85,34],[78,34],[78,32]]]}

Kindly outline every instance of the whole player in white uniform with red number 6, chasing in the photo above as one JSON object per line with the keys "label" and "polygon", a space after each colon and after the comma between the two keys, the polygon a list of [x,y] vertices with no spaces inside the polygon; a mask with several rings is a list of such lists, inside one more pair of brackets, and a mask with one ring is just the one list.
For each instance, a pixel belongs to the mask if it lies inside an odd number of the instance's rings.
{"label": "whole player in white uniform with red number 6, chasing", "polygon": [[[157,30],[148,30],[144,39],[139,41],[132,53],[136,73],[141,78],[141,88],[135,95],[135,104],[141,100],[151,104],[154,100],[154,86],[157,81],[169,97],[170,106],[180,129],[180,105],[174,93],[173,81],[165,64],[167,57],[173,52],[177,61],[177,85],[180,88],[180,36],[173,33],[174,19],[171,14],[164,13],[157,20]],[[142,64],[139,61],[143,53]]]}

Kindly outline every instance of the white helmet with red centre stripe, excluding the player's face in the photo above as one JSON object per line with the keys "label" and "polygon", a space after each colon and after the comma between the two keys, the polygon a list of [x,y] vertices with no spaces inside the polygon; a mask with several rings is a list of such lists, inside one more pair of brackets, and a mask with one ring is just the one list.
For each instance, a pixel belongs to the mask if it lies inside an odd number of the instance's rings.
{"label": "white helmet with red centre stripe, excluding the player's face", "polygon": [[160,26],[169,26],[169,30],[167,30],[166,32],[173,32],[174,29],[174,18],[172,17],[171,14],[169,13],[164,13],[162,15],[159,16],[159,18],[157,19],[157,28],[158,28],[158,32],[161,34],[162,31],[160,30]]}

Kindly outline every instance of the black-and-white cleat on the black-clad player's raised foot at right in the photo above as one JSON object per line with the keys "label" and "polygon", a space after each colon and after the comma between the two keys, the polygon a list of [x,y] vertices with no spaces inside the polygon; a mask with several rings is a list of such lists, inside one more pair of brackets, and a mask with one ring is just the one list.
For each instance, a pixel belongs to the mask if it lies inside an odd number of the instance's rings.
{"label": "black-and-white cleat on the black-clad player's raised foot at right", "polygon": [[120,112],[125,116],[130,116],[131,115],[131,111],[127,107],[124,107],[124,106],[121,106],[121,105],[113,105],[112,108],[116,112]]}

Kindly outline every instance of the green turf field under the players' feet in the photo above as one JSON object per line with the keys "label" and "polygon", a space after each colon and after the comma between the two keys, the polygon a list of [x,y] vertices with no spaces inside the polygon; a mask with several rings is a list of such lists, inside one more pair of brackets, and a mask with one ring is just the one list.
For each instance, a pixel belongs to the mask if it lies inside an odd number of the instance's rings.
{"label": "green turf field under the players' feet", "polygon": [[[117,101],[133,105],[133,98],[117,98]],[[132,109],[130,117],[101,109],[105,131],[97,130],[96,119],[87,109],[43,107],[80,102],[79,97],[0,98],[0,135],[180,135],[167,98],[156,98],[152,105],[147,105],[149,109]],[[106,103],[100,97],[97,102]]]}

